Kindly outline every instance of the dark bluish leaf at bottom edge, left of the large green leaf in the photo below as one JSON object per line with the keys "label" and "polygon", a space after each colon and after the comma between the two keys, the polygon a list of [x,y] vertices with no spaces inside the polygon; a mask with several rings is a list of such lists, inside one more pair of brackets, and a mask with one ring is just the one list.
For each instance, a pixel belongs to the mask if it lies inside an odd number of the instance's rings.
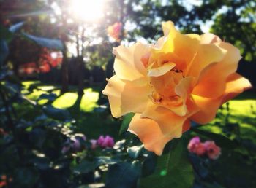
{"label": "dark bluish leaf at bottom edge, left of the large green leaf", "polygon": [[136,187],[140,176],[140,162],[121,162],[111,165],[107,174],[106,187],[131,188]]}

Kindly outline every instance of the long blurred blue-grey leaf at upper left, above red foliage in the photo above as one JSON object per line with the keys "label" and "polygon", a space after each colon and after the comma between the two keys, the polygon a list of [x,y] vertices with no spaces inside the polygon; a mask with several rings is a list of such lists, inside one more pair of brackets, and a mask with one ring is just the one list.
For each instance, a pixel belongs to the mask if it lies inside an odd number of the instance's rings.
{"label": "long blurred blue-grey leaf at upper left, above red foliage", "polygon": [[53,50],[63,50],[64,46],[59,39],[47,39],[43,37],[33,36],[30,34],[23,33],[23,36],[25,36],[27,39],[30,39],[33,42],[36,42],[38,45],[42,47],[47,47],[49,49]]}

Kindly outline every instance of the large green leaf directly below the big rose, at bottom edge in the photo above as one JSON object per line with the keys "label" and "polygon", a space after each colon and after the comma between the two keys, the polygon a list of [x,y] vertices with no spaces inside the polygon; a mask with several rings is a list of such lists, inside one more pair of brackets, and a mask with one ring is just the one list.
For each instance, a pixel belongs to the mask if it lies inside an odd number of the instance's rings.
{"label": "large green leaf directly below the big rose, at bottom edge", "polygon": [[194,173],[187,158],[187,144],[181,139],[175,139],[167,144],[165,149],[167,153],[157,158],[155,172],[140,179],[140,187],[192,187]]}

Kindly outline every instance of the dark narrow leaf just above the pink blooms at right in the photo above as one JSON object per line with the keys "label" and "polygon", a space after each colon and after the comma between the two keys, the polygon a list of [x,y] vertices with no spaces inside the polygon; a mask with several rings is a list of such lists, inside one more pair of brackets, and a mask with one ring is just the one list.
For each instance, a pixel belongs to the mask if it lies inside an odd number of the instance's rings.
{"label": "dark narrow leaf just above the pink blooms at right", "polygon": [[215,143],[218,146],[221,146],[221,147],[227,148],[227,149],[236,148],[236,144],[233,141],[231,141],[229,138],[227,138],[226,136],[222,136],[222,135],[216,134],[216,133],[210,133],[206,130],[201,130],[198,128],[192,128],[191,130],[194,131],[195,133],[202,135],[202,136],[211,138],[212,140],[215,141]]}

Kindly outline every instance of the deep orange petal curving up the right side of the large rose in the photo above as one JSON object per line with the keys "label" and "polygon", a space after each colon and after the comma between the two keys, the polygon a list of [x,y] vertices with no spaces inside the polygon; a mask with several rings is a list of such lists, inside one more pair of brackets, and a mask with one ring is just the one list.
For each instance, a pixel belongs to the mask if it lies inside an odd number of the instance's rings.
{"label": "deep orange petal curving up the right side of the large rose", "polygon": [[241,59],[239,50],[225,42],[219,44],[219,47],[227,50],[225,57],[221,62],[203,71],[193,94],[206,98],[217,98],[223,95],[227,77],[236,72],[238,61]]}

